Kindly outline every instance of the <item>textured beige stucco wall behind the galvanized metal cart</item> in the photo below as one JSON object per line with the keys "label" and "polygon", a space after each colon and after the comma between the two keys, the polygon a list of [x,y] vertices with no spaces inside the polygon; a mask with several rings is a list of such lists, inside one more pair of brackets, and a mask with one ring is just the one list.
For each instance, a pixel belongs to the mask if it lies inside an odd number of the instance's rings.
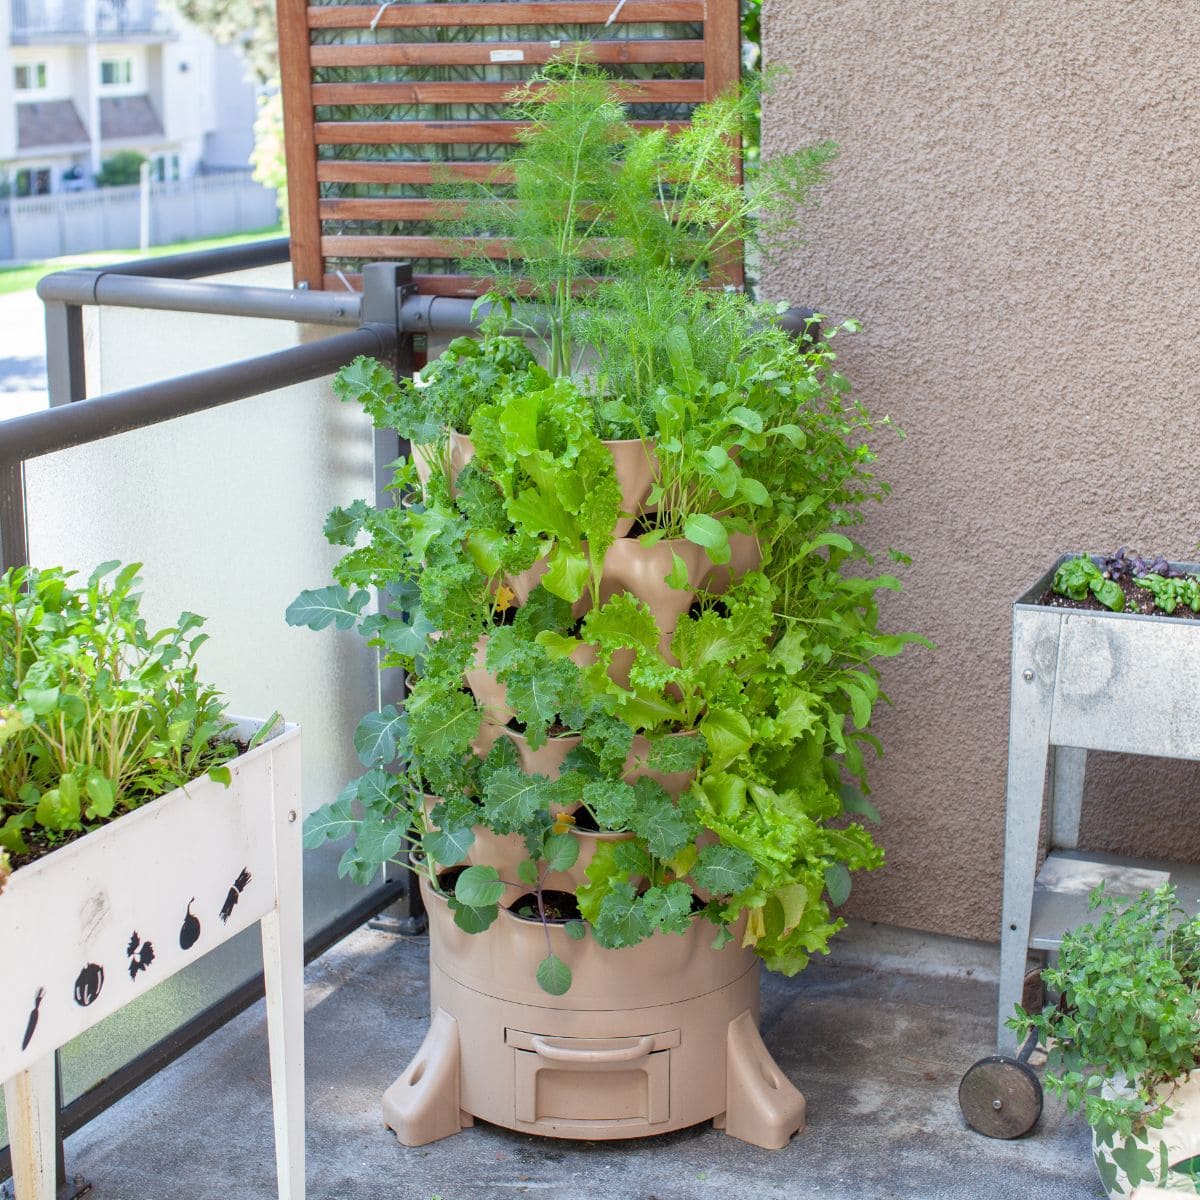
{"label": "textured beige stucco wall behind the galvanized metal cart", "polygon": [[[881,444],[875,541],[916,558],[887,616],[940,647],[888,671],[889,865],[852,904],[995,940],[1010,600],[1064,550],[1200,538],[1200,6],[764,7],[792,68],[767,154],[842,157],[763,293],[865,322],[842,366],[908,434]],[[1097,768],[1085,845],[1200,858],[1200,773]]]}

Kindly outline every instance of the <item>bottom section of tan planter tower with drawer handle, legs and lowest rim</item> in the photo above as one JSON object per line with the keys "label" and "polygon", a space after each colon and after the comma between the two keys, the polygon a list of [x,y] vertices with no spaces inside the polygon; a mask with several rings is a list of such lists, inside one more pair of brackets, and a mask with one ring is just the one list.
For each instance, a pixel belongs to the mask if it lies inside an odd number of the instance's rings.
{"label": "bottom section of tan planter tower with drawer handle, legs and lowest rim", "polygon": [[502,910],[486,934],[464,934],[422,888],[432,1020],[383,1100],[406,1146],[476,1117],[586,1141],[710,1120],[766,1150],[804,1127],[804,1097],[758,1036],[758,961],[736,943],[714,950],[706,922],[622,950],[551,928],[575,978],[565,996],[550,996],[534,982],[546,954],[540,924]]}

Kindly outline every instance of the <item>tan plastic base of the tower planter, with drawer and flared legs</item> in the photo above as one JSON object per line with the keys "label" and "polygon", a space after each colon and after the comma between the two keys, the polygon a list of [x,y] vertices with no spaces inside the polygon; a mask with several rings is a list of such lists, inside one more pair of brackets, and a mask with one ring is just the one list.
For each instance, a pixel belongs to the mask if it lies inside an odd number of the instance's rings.
{"label": "tan plastic base of the tower planter, with drawer and flared legs", "polygon": [[[437,904],[434,942],[436,913]],[[804,1128],[804,1097],[758,1036],[752,956],[712,990],[688,995],[695,980],[682,978],[688,998],[642,1008],[487,995],[452,977],[452,956],[443,968],[436,944],[431,956],[430,1032],[383,1100],[384,1121],[406,1146],[448,1138],[475,1117],[582,1141],[654,1136],[712,1120],[764,1150],[786,1146]],[[638,995],[636,980],[623,992]],[[714,1054],[720,1045],[725,1054]]]}

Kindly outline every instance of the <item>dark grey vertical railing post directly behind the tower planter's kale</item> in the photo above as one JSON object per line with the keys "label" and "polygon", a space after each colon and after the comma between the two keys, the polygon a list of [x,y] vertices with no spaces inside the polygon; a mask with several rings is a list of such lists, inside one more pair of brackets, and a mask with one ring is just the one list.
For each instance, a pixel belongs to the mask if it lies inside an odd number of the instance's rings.
{"label": "dark grey vertical railing post directly behind the tower planter's kale", "polygon": [[[396,330],[396,349],[389,356],[388,366],[400,376],[413,373],[413,335],[401,329],[400,308],[404,296],[415,292],[412,263],[366,263],[362,266],[362,322],[372,325],[391,325]],[[376,505],[384,508],[397,504],[398,497],[388,490],[391,482],[389,469],[401,455],[412,452],[412,446],[394,430],[374,431],[374,479]],[[383,598],[380,598],[380,604]],[[379,676],[379,707],[401,704],[404,700],[404,679],[400,671]],[[416,886],[415,876],[408,871],[404,895],[396,904],[379,913],[372,929],[386,932],[422,934],[426,929],[425,905]]]}

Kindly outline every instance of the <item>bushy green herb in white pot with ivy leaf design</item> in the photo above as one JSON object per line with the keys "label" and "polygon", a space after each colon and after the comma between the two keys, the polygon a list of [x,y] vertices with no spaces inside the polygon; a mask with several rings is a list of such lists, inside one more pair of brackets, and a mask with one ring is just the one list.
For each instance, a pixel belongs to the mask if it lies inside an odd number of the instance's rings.
{"label": "bushy green herb in white pot with ivy leaf design", "polygon": [[1019,1036],[1049,1049],[1046,1086],[1092,1127],[1110,1196],[1144,1183],[1196,1194],[1200,1181],[1200,917],[1175,887],[1134,899],[1097,889],[1090,924],[1070,930],[1043,972],[1060,998],[1019,1010]]}

